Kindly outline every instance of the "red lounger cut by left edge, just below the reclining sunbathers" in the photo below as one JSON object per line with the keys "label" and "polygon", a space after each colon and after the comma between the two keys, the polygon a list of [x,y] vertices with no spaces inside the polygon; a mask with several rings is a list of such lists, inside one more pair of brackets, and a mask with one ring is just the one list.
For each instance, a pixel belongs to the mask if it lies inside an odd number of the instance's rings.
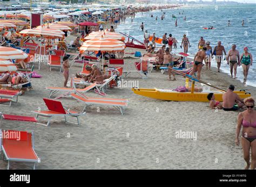
{"label": "red lounger cut by left edge, just below the reclining sunbathers", "polygon": [[18,102],[18,95],[21,95],[21,91],[18,90],[7,90],[7,89],[0,89],[0,105],[5,105],[1,103],[10,103],[11,102]]}

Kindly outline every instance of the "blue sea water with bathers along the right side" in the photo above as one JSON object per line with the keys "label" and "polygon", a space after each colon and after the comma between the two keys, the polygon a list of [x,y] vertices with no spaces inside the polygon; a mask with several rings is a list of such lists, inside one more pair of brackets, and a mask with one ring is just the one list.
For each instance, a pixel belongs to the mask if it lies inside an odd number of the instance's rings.
{"label": "blue sea water with bathers along the right side", "polygon": [[[164,20],[161,20],[163,12],[156,10],[152,12],[139,12],[135,19],[126,19],[125,24],[121,24],[116,29],[119,32],[129,33],[134,38],[143,42],[143,32],[139,26],[144,23],[145,30],[150,34],[156,32],[157,37],[162,37],[164,33],[172,34],[178,40],[177,49],[173,49],[173,53],[183,52],[179,46],[186,34],[190,40],[191,47],[188,48],[190,57],[198,51],[198,41],[200,37],[204,37],[205,41],[210,41],[212,48],[221,41],[226,49],[226,53],[231,49],[232,44],[237,45],[240,55],[244,52],[244,47],[249,48],[254,62],[256,62],[256,4],[226,4],[226,5],[204,5],[197,7],[181,7],[179,9],[163,10],[165,12]],[[179,15],[180,12],[180,15]],[[153,17],[151,17],[151,13]],[[182,14],[183,13],[183,14]],[[178,26],[175,26],[176,18]],[[156,20],[156,16],[158,19]],[[183,18],[186,16],[186,21]],[[231,25],[227,26],[228,20]],[[241,25],[244,20],[244,26]],[[213,26],[215,30],[204,30],[203,27]],[[160,47],[160,45],[158,45]],[[211,66],[217,67],[215,58],[212,60]],[[238,67],[237,77],[242,81],[242,67]],[[230,74],[227,61],[221,63],[221,71]],[[256,87],[256,63],[250,67],[247,84]]]}

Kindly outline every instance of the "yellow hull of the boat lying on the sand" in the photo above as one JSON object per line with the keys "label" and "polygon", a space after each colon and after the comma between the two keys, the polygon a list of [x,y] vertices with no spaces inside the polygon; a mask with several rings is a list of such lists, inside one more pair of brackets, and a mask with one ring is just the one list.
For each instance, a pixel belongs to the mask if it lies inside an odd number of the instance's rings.
{"label": "yellow hull of the boat lying on the sand", "polygon": [[[173,101],[194,101],[194,102],[209,102],[207,99],[208,93],[202,92],[165,92],[160,91],[158,89],[145,89],[145,88],[132,88],[132,91],[141,96],[150,97],[154,99],[161,100],[173,100]],[[245,91],[234,91],[239,95],[240,98],[247,98],[251,96],[251,93]],[[214,93],[215,100],[219,100],[219,102],[223,102],[223,92],[215,92]]]}

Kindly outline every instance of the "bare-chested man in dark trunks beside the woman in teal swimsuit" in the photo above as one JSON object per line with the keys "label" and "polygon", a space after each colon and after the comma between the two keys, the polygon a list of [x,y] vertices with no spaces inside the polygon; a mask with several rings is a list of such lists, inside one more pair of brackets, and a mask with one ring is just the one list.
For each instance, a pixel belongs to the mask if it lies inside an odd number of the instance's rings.
{"label": "bare-chested man in dark trunks beside the woman in teal swimsuit", "polygon": [[233,78],[233,68],[234,68],[234,78],[237,78],[237,65],[240,65],[239,59],[239,51],[235,48],[236,45],[232,45],[232,49],[227,53],[227,64],[230,64],[230,74],[231,78]]}

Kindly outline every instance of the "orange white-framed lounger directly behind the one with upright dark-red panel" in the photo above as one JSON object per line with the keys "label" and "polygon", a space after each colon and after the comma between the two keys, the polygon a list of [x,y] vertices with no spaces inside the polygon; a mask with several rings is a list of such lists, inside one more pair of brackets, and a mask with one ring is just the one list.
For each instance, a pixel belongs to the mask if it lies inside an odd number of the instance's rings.
{"label": "orange white-framed lounger directly behind the one with upright dark-red panel", "polygon": [[[86,88],[84,89],[76,89],[80,92],[87,92],[93,88],[96,87],[96,83],[93,83],[89,86],[87,86]],[[57,96],[55,99],[58,99],[58,98],[61,98],[61,97],[69,97],[70,96],[70,93],[73,93],[75,92],[76,90],[74,88],[63,88],[63,87],[46,87],[46,90],[50,90],[50,93],[49,93],[49,98],[53,95],[55,95],[56,93],[59,93],[59,92],[64,92],[63,94]]]}

